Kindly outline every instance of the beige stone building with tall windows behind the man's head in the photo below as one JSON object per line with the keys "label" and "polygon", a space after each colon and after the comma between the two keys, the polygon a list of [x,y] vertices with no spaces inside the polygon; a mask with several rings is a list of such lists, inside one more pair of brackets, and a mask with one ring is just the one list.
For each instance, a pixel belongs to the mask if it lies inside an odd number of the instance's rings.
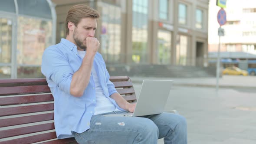
{"label": "beige stone building with tall windows behind the man's head", "polygon": [[106,63],[207,66],[208,0],[52,1],[57,43],[69,8],[86,4],[101,14],[96,37]]}

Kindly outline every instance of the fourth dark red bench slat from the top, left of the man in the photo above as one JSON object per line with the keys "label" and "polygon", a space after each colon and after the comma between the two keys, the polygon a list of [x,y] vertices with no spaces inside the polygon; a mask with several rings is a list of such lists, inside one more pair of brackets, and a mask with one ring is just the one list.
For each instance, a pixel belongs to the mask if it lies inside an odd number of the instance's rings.
{"label": "fourth dark red bench slat from the top, left of the man", "polygon": [[0,116],[27,114],[32,112],[52,111],[54,104],[26,105],[12,108],[0,108]]}

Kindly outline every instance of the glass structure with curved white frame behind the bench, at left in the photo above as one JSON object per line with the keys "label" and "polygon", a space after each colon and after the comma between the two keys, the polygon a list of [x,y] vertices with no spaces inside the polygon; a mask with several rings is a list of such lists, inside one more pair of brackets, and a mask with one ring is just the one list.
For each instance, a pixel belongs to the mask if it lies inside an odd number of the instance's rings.
{"label": "glass structure with curved white frame behind the bench, at left", "polygon": [[43,51],[55,41],[51,0],[0,0],[0,79],[43,77]]}

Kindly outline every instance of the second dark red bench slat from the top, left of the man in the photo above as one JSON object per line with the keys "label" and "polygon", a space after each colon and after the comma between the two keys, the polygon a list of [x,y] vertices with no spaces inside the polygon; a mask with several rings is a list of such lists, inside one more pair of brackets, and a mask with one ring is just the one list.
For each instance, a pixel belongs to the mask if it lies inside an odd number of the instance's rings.
{"label": "second dark red bench slat from the top, left of the man", "polygon": [[48,85],[0,87],[0,95],[29,94],[39,92],[51,92]]}

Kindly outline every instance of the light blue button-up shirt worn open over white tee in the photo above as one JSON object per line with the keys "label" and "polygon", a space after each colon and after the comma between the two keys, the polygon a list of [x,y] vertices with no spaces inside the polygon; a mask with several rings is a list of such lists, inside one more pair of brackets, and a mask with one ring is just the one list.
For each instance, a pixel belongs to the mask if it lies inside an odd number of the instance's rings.
{"label": "light blue button-up shirt worn open over white tee", "polygon": [[[73,137],[71,131],[82,133],[90,128],[90,120],[96,105],[93,78],[91,77],[82,97],[70,95],[72,76],[81,64],[82,58],[77,52],[77,47],[66,39],[49,46],[43,53],[42,73],[46,76],[54,97],[54,124],[58,138]],[[93,65],[104,94],[118,109],[125,111],[110,98],[117,91],[115,85],[109,81],[105,62],[98,52]]]}

